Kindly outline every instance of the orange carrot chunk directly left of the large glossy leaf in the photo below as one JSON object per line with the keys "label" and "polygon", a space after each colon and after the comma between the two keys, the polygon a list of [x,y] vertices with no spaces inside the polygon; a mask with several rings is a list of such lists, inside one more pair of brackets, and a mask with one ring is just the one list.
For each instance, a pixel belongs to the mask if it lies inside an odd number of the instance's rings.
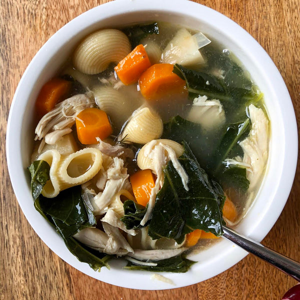
{"label": "orange carrot chunk directly left of the large glossy leaf", "polygon": [[155,180],[150,169],[140,170],[129,177],[137,203],[146,206]]}

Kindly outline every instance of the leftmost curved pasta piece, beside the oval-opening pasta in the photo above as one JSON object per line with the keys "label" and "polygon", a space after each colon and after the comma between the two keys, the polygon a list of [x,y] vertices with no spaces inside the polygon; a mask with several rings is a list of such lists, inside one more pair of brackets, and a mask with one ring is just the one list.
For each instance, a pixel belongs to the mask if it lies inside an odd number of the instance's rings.
{"label": "leftmost curved pasta piece, beside the oval-opening pasta", "polygon": [[60,161],[60,153],[55,150],[47,150],[40,154],[37,160],[45,160],[50,165],[50,180],[43,186],[41,194],[47,198],[53,198],[58,195],[60,191],[57,172]]}

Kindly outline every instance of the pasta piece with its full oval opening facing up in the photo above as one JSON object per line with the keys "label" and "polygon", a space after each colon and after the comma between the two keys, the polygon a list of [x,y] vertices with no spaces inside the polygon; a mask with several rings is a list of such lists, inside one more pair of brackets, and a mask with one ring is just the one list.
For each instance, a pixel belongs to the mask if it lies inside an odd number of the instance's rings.
{"label": "pasta piece with its full oval opening facing up", "polygon": [[102,153],[96,148],[84,148],[62,157],[58,170],[60,190],[90,180],[102,167]]}

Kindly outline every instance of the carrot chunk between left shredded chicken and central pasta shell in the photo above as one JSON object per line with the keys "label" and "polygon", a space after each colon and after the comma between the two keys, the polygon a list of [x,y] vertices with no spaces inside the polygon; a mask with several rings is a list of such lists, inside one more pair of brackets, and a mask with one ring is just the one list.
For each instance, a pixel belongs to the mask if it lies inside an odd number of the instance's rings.
{"label": "carrot chunk between left shredded chicken and central pasta shell", "polygon": [[86,108],[77,114],[77,137],[82,144],[97,143],[96,137],[104,139],[112,133],[105,111],[98,108]]}

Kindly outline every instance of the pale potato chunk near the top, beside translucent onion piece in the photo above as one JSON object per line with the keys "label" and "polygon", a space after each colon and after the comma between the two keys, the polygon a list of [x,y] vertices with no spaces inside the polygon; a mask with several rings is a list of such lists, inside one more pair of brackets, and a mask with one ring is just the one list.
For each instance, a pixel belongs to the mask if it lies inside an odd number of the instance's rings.
{"label": "pale potato chunk near the top, beside translucent onion piece", "polygon": [[183,66],[201,65],[205,60],[198,48],[196,37],[181,28],[163,49],[162,62]]}

